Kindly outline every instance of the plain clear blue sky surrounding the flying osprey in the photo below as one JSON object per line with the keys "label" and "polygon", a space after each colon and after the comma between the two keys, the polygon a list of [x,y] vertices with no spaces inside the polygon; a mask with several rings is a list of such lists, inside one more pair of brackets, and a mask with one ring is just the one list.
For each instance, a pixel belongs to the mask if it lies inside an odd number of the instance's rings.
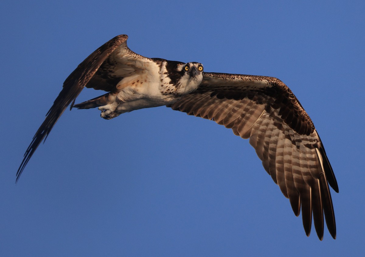
{"label": "plain clear blue sky surrounding the flying osprey", "polygon": [[[8,1],[1,20],[4,256],[360,256],[363,1]],[[166,107],[66,111],[15,173],[65,78],[119,34],[146,57],[273,76],[311,116],[339,185],[337,239],[309,238],[254,149]],[[99,96],[85,90],[77,102]]]}

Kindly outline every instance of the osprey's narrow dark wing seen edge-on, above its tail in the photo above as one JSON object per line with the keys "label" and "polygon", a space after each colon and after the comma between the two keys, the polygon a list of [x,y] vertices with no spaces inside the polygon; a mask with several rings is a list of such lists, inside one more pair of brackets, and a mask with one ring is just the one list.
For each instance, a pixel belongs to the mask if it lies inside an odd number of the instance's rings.
{"label": "osprey's narrow dark wing seen edge-on, above its tail", "polygon": [[150,60],[128,49],[127,38],[127,35],[119,35],[106,42],[81,62],[66,78],[62,91],[47,112],[44,122],[35,133],[24,154],[23,161],[16,173],[16,181],[39,144],[47,138],[69,104],[71,104],[71,108],[73,107],[76,97],[85,86],[113,91],[125,74],[141,69],[143,60]]}

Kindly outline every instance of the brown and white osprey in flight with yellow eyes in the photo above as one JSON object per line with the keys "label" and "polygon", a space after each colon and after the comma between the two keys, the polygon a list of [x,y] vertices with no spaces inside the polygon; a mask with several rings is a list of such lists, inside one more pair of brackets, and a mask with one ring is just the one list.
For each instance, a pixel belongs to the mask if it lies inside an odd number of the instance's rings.
{"label": "brown and white osprey in flight with yellow eyes", "polygon": [[[24,154],[16,181],[69,104],[70,109],[98,107],[104,119],[166,105],[214,120],[235,135],[249,138],[296,216],[301,209],[307,236],[313,214],[316,233],[323,239],[324,214],[328,231],[336,238],[328,184],[338,192],[337,181],[312,120],[283,82],[273,77],[203,72],[198,62],[146,58],[127,47],[127,38],[111,39],[66,78]],[[84,87],[107,93],[75,105]]]}

